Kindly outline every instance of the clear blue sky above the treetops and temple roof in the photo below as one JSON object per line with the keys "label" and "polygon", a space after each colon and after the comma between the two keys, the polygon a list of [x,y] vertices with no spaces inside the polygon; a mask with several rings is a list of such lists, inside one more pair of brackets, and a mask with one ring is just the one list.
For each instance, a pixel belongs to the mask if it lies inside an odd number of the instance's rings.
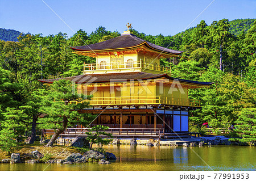
{"label": "clear blue sky above the treetops and temple roof", "polygon": [[[103,26],[122,33],[129,22],[135,30],[147,35],[167,36],[184,31],[213,0],[43,1],[75,32],[82,29],[90,33]],[[72,36],[73,31],[43,1],[1,0],[0,28],[44,36],[65,32]],[[224,18],[256,18],[256,0],[216,0],[189,27],[196,26],[202,19],[211,24]]]}

